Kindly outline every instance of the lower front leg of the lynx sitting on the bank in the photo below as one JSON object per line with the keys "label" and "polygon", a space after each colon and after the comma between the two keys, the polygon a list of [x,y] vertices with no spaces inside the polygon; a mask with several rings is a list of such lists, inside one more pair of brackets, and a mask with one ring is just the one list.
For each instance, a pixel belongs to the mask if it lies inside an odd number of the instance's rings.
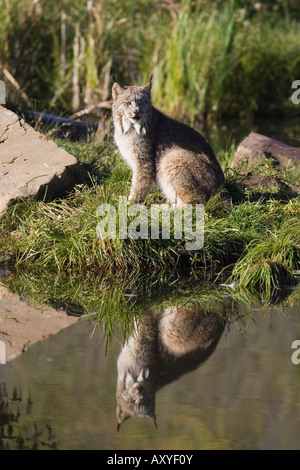
{"label": "lower front leg of the lynx sitting on the bank", "polygon": [[155,184],[153,165],[139,165],[133,170],[131,189],[128,200],[142,203]]}

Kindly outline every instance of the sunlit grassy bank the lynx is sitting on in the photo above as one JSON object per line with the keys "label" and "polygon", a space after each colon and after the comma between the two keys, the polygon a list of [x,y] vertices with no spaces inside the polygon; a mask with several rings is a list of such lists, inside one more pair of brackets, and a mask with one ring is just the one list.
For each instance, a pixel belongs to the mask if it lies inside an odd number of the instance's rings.
{"label": "sunlit grassy bank the lynx is sitting on", "polygon": [[[236,283],[249,292],[265,292],[297,283],[300,269],[300,197],[292,170],[280,173],[265,163],[253,171],[273,178],[274,188],[247,187],[242,169],[226,170],[226,187],[205,208],[204,247],[185,250],[186,239],[100,239],[97,207],[128,195],[130,173],[110,141],[61,142],[85,164],[90,184],[63,200],[19,201],[1,219],[0,262],[27,273],[76,276],[127,276],[203,273]],[[233,150],[218,155],[227,166]],[[282,179],[293,189],[283,191]],[[147,201],[163,202],[153,191]],[[171,232],[172,233],[172,232]],[[267,293],[267,294],[266,294]]]}

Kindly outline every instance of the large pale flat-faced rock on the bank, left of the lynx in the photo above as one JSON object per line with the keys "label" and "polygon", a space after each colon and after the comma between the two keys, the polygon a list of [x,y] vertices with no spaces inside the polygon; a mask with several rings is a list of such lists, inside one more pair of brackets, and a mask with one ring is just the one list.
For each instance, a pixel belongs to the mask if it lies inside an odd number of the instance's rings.
{"label": "large pale flat-faced rock on the bank, left of the lynx", "polygon": [[85,179],[73,155],[0,106],[0,216],[18,197],[60,197]]}

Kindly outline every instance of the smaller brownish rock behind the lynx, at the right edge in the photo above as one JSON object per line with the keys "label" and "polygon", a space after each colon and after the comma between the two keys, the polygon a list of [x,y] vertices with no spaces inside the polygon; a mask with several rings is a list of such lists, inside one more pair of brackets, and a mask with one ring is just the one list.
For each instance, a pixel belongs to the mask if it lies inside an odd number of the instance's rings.
{"label": "smaller brownish rock behind the lynx, at the right edge", "polygon": [[293,165],[300,171],[300,148],[291,147],[255,132],[251,132],[240,143],[234,154],[232,166],[246,161],[250,168],[263,163],[266,157],[272,158],[279,168]]}

